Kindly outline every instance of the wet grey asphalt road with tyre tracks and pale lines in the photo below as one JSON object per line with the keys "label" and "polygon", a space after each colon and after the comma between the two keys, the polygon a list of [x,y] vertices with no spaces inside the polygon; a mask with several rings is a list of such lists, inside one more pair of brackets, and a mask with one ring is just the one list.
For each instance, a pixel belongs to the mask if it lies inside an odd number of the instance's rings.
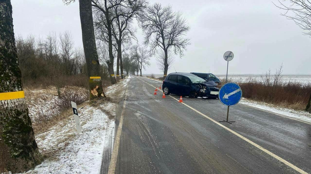
{"label": "wet grey asphalt road with tyre tracks and pale lines", "polygon": [[132,76],[120,91],[109,173],[311,173],[311,124],[242,104],[230,107],[235,123],[218,123],[219,100],[184,105],[153,95],[160,85]]}

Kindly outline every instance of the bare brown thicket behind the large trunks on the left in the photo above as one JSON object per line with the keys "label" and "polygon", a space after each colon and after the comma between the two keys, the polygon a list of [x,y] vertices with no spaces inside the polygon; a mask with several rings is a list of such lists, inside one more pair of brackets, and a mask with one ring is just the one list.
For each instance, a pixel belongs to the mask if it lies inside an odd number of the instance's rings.
{"label": "bare brown thicket behind the large trunks on the left", "polygon": [[[86,87],[84,51],[74,47],[70,32],[50,32],[45,38],[16,36],[16,49],[24,86]],[[105,66],[102,66],[101,74],[108,77]]]}

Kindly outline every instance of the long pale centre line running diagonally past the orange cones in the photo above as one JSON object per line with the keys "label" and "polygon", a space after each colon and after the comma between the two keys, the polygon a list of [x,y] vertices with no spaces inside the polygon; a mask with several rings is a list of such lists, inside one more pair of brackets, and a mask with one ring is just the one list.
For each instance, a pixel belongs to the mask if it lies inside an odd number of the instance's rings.
{"label": "long pale centre line running diagonally past the orange cones", "polygon": [[[138,77],[137,77],[137,78],[138,78]],[[140,79],[140,80],[141,80],[141,79]],[[145,82],[144,80],[142,80],[142,81]],[[145,83],[148,84],[148,85],[150,85],[150,86],[153,86],[153,85],[151,85],[151,84],[149,84],[149,83],[147,83],[147,82],[145,82]],[[153,86],[153,87],[156,88],[155,86]],[[172,96],[170,96],[170,95],[168,95],[168,96],[171,97],[171,98],[174,98],[174,97],[172,97]],[[174,98],[174,99],[177,100],[177,101],[179,101],[179,100],[176,99],[176,98]],[[289,167],[293,168],[293,169],[296,170],[297,172],[302,173],[302,174],[308,174],[307,172],[304,172],[302,169],[296,167],[294,164],[292,164],[292,163],[286,161],[285,159],[283,159],[283,158],[277,156],[276,154],[273,154],[273,153],[270,152],[269,150],[263,148],[262,146],[259,146],[258,144],[254,143],[253,141],[251,141],[251,140],[249,140],[249,139],[243,137],[243,136],[240,135],[239,133],[234,132],[234,131],[231,130],[230,128],[225,127],[224,125],[220,124],[218,121],[215,121],[215,120],[213,120],[212,118],[208,117],[207,115],[202,114],[200,111],[197,111],[196,109],[194,109],[193,107],[187,105],[186,103],[183,102],[183,105],[187,106],[188,108],[192,109],[193,111],[197,112],[198,114],[204,116],[205,118],[211,120],[212,122],[218,124],[219,126],[225,128],[225,129],[228,130],[229,132],[231,132],[231,133],[233,133],[234,135],[236,135],[236,136],[242,138],[244,141],[246,141],[246,142],[250,143],[251,145],[257,147],[258,149],[260,149],[260,150],[266,152],[267,154],[271,155],[273,158],[275,158],[275,159],[281,161],[282,163],[288,165]]]}

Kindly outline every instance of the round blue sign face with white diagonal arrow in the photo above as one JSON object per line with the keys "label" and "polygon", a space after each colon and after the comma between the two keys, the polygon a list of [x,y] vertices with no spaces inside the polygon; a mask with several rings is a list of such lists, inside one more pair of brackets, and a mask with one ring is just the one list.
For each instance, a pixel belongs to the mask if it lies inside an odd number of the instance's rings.
{"label": "round blue sign face with white diagonal arrow", "polygon": [[242,97],[242,90],[235,83],[226,83],[220,88],[219,99],[226,106],[237,104]]}

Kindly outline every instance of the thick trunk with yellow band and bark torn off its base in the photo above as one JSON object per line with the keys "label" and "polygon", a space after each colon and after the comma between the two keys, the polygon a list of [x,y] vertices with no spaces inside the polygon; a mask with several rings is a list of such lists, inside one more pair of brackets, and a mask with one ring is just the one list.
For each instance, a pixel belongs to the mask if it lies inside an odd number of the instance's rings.
{"label": "thick trunk with yellow band and bark torn off its base", "polygon": [[100,78],[100,64],[95,43],[91,0],[80,0],[82,41],[89,76],[90,99],[106,97]]}

